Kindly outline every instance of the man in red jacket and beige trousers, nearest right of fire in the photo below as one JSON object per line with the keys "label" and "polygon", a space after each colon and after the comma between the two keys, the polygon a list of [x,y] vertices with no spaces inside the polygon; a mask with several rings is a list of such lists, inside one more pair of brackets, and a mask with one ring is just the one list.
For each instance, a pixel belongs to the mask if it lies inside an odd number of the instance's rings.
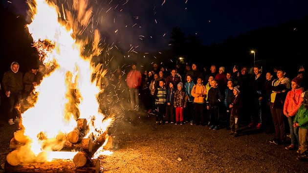
{"label": "man in red jacket and beige trousers, nearest right of fire", "polygon": [[136,70],[135,63],[132,64],[132,70],[127,74],[126,84],[129,87],[131,98],[131,110],[139,111],[139,86],[141,85],[141,73]]}

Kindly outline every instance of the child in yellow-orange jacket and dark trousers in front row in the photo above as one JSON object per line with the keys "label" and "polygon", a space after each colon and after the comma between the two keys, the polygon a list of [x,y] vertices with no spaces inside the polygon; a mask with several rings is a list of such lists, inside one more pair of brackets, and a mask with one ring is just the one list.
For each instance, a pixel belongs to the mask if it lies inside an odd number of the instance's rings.
{"label": "child in yellow-orange jacket and dark trousers in front row", "polygon": [[200,77],[197,79],[197,85],[193,86],[192,96],[194,97],[195,107],[195,123],[196,126],[205,126],[204,121],[204,98],[206,97],[206,87],[202,84],[203,81]]}

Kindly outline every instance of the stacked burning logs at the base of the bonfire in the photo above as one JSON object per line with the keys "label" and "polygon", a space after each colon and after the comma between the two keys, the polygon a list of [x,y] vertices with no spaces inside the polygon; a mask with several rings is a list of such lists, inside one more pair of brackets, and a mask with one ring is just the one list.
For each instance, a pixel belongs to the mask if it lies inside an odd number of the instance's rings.
{"label": "stacked burning logs at the base of the bonfire", "polygon": [[[78,151],[72,160],[52,160],[46,162],[44,154],[44,147],[49,147],[50,141],[44,137],[44,134],[39,134],[40,139],[44,139],[42,144],[43,151],[37,156],[27,146],[29,138],[24,135],[24,130],[18,130],[14,133],[14,137],[10,141],[9,148],[13,149],[12,152],[6,156],[5,170],[6,172],[99,172],[99,160],[92,159],[94,153],[105,143],[107,132],[101,133],[94,139],[93,135],[84,138],[87,135],[88,126],[86,119],[77,119],[77,126],[74,130],[67,135],[58,134],[56,139],[57,143],[61,144],[61,148],[54,148],[51,152],[57,151]],[[50,150],[50,147],[48,148]],[[23,151],[23,152],[21,152]],[[21,153],[26,153],[21,154]],[[70,170],[70,171],[67,171]]]}

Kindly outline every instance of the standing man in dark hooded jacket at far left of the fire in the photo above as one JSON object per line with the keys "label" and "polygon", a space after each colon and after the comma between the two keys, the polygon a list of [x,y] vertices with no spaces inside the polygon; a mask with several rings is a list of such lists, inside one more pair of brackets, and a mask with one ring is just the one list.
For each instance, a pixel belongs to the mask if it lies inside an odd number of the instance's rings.
{"label": "standing man in dark hooded jacket at far left of the fire", "polygon": [[[22,99],[22,72],[18,71],[18,69],[19,64],[17,62],[13,62],[11,64],[11,70],[5,72],[2,79],[3,90],[9,100],[9,125],[18,123],[20,120],[20,115],[16,116],[13,111],[15,106],[18,105]],[[13,121],[14,118],[16,119]]]}

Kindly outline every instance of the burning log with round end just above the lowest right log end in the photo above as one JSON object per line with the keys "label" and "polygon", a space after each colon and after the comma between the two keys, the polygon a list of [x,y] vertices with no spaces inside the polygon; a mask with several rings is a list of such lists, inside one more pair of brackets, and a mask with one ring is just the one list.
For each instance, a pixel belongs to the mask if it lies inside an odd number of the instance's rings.
{"label": "burning log with round end just above the lowest right log end", "polygon": [[92,140],[88,138],[82,139],[78,143],[71,143],[68,140],[64,143],[64,147],[61,151],[86,151],[91,152],[92,151]]}

